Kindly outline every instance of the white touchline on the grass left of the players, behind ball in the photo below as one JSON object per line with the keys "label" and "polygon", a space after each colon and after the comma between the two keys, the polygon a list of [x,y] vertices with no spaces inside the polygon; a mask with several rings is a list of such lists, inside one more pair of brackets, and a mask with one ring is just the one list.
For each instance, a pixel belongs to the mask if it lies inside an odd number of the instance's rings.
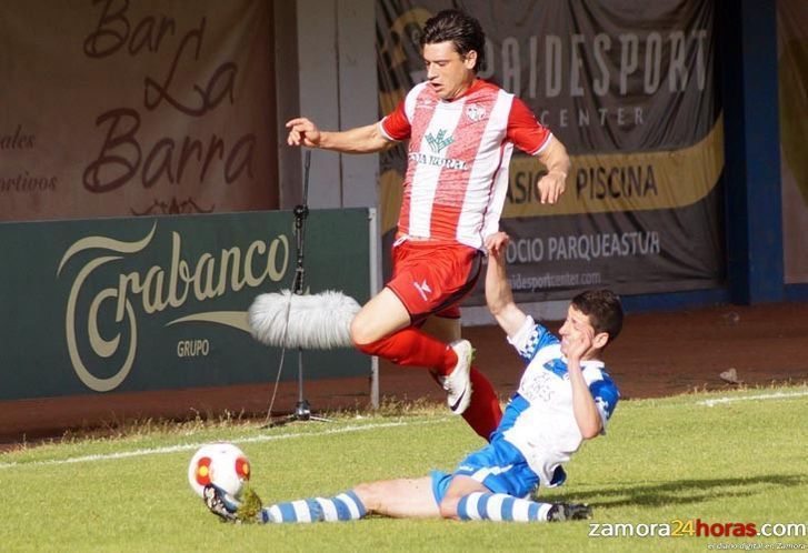
{"label": "white touchline on the grass left of the players, behind ball", "polygon": [[[351,425],[351,426],[343,426],[341,429],[329,429],[329,430],[326,430],[322,432],[299,432],[296,434],[259,435],[259,436],[252,436],[252,438],[238,438],[235,440],[229,440],[229,442],[230,443],[272,442],[276,440],[288,440],[291,438],[325,436],[325,435],[331,435],[331,434],[345,434],[348,432],[362,432],[366,430],[390,429],[390,428],[396,428],[396,426],[409,426],[411,424],[435,424],[438,422],[446,422],[449,419],[447,419],[447,418],[440,418],[440,419],[429,419],[426,421],[382,422],[382,423],[377,423],[377,424],[363,424],[360,426]],[[168,445],[164,448],[148,448],[148,449],[142,449],[142,450],[121,451],[118,453],[99,453],[96,455],[82,455],[82,456],[78,456],[78,458],[68,458],[68,459],[51,459],[49,461],[32,461],[30,463],[26,463],[26,462],[0,463],[0,470],[13,469],[14,466],[43,466],[43,465],[60,465],[60,464],[73,464],[73,463],[91,463],[94,461],[139,458],[139,456],[143,456],[143,455],[162,455],[166,453],[177,453],[179,451],[192,451],[192,450],[201,448],[202,445],[205,445],[205,443],[209,443],[209,442],[186,443],[186,444],[179,444],[179,445]]]}

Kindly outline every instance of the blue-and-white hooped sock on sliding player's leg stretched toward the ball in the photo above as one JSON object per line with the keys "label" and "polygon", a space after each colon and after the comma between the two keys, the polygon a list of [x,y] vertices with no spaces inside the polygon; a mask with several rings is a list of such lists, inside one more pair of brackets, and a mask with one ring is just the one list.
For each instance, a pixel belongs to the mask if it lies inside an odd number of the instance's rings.
{"label": "blue-and-white hooped sock on sliding player's leg stretched toward the ball", "polygon": [[335,497],[311,497],[308,500],[276,503],[261,510],[261,520],[268,522],[338,522],[356,521],[367,510],[356,493],[340,493]]}

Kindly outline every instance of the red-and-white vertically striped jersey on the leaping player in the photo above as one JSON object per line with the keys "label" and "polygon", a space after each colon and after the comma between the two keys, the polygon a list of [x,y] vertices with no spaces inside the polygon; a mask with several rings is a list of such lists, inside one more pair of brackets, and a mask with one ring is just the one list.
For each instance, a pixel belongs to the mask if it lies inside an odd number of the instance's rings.
{"label": "red-and-white vertically striped jersey on the leaping player", "polygon": [[479,79],[450,102],[417,84],[379,127],[410,140],[399,232],[478,249],[499,230],[513,145],[536,155],[552,137],[521,100]]}

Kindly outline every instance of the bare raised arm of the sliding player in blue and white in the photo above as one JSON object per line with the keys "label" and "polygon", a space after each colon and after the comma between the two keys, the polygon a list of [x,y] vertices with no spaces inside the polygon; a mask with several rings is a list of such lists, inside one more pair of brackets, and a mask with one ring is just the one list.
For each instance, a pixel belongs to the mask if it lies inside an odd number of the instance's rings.
{"label": "bare raised arm of the sliding player in blue and white", "polygon": [[497,324],[512,336],[521,329],[527,315],[513,302],[513,293],[505,271],[505,251],[508,241],[508,234],[505,232],[497,232],[486,239],[488,250],[486,303]]}

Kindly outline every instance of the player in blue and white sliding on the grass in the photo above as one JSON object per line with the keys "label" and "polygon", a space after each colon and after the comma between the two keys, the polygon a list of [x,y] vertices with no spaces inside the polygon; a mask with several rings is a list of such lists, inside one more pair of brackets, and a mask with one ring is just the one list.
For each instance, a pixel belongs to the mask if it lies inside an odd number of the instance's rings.
{"label": "player in blue and white sliding on the grass", "polygon": [[[392,517],[445,517],[543,522],[591,516],[588,505],[532,501],[537,486],[563,483],[563,463],[585,440],[605,433],[619,399],[599,360],[620,332],[622,309],[608,290],[575,296],[560,339],[513,302],[505,271],[507,234],[486,240],[486,299],[497,323],[526,363],[518,391],[490,443],[452,473],[359,484],[335,497],[313,497],[262,507],[250,522],[336,522],[369,513]],[[208,507],[237,520],[236,504],[213,487]]]}

